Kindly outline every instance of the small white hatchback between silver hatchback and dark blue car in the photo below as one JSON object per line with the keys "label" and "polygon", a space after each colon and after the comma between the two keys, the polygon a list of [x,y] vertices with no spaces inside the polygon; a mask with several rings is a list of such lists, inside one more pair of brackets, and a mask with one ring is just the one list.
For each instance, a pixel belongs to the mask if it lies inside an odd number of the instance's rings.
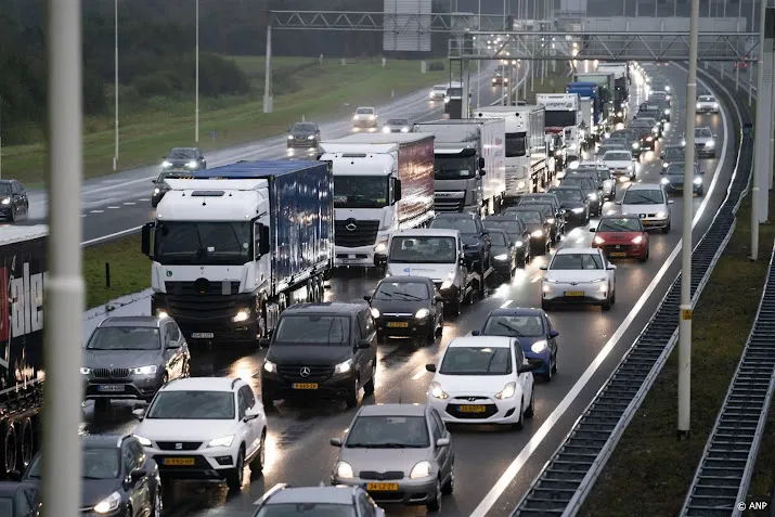
{"label": "small white hatchback between silver hatchback and dark blue car", "polygon": [[519,341],[507,336],[465,336],[452,339],[434,373],[428,405],[447,424],[507,424],[519,429],[535,408],[534,370]]}

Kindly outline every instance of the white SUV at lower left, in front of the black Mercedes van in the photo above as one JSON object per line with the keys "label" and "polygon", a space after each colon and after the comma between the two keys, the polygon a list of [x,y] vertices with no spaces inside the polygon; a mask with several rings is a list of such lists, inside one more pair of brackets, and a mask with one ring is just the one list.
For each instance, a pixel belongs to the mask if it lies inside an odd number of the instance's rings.
{"label": "white SUV at lower left, in front of the black Mercedes van", "polygon": [[246,382],[228,377],[172,380],[147,411],[134,410],[134,435],[163,477],[225,479],[242,487],[245,464],[260,473],[266,458],[267,415]]}

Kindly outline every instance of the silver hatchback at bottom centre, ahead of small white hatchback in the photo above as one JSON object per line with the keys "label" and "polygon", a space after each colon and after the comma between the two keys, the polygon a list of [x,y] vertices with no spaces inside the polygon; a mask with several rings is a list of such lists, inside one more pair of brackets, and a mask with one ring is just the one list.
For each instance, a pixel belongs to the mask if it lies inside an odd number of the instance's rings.
{"label": "silver hatchback at bottom centre, ahead of small white hatchback", "polygon": [[331,475],[332,484],[364,487],[377,503],[441,507],[454,488],[454,452],[439,413],[428,405],[365,405],[356,415]]}

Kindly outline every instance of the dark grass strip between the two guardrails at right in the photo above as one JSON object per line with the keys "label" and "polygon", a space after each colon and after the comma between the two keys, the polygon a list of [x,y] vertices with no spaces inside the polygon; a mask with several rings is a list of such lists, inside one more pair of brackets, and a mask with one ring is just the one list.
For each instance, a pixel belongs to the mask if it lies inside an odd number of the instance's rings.
{"label": "dark grass strip between the two guardrails at right", "polygon": [[[692,438],[679,442],[675,435],[676,347],[595,482],[580,516],[651,517],[681,512],[753,324],[767,273],[775,227],[761,227],[760,260],[751,262],[750,201],[749,194],[737,214],[732,241],[713,269],[694,313]],[[770,209],[775,209],[772,201]],[[765,436],[770,437],[765,448],[773,454],[772,435]],[[770,477],[762,476],[758,481],[762,488],[772,484],[772,465],[771,461],[762,466]]]}

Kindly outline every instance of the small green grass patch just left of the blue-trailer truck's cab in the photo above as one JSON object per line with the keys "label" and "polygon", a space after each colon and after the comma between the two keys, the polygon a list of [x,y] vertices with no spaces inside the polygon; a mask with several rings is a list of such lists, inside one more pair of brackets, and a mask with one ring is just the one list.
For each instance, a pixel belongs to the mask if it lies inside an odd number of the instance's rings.
{"label": "small green grass patch just left of the blue-trailer truck's cab", "polygon": [[[109,287],[106,263],[111,269]],[[146,289],[151,283],[151,260],[140,253],[140,235],[83,249],[83,280],[87,309]]]}

